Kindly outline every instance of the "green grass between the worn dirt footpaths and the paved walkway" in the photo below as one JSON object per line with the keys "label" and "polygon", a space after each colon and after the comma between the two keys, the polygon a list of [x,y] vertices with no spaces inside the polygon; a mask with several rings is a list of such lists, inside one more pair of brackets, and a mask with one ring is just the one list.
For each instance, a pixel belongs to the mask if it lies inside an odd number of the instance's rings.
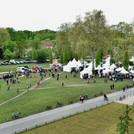
{"label": "green grass between the worn dirt footpaths and the paved walkway", "polygon": [[[51,80],[50,80],[51,81]],[[103,79],[102,79],[103,81]],[[129,80],[124,80],[123,82],[115,83],[115,90],[122,88],[124,84],[130,83]],[[105,92],[110,93],[115,90],[110,90],[110,83],[92,83],[87,88],[83,86],[79,87],[58,87],[58,88],[49,88],[49,89],[36,89],[31,90],[24,94],[23,96],[8,102],[0,106],[0,122],[3,122],[4,119],[10,119],[12,113],[21,112],[22,117],[28,116],[39,111],[45,111],[46,106],[52,106],[56,108],[56,103],[61,102],[63,105],[69,104],[69,100],[78,102],[80,94],[86,94],[88,92],[89,96],[93,96],[95,93]]]}

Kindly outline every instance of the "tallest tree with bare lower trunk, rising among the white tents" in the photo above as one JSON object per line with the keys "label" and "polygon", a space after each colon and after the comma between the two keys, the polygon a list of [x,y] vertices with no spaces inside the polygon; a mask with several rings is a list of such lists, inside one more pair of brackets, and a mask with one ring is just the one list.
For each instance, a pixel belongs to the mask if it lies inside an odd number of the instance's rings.
{"label": "tallest tree with bare lower trunk, rising among the white tents", "polygon": [[87,12],[84,18],[84,29],[87,49],[92,53],[92,70],[94,72],[94,53],[96,49],[104,47],[104,41],[107,40],[107,33],[109,33],[107,32],[108,29],[103,12],[101,10]]}

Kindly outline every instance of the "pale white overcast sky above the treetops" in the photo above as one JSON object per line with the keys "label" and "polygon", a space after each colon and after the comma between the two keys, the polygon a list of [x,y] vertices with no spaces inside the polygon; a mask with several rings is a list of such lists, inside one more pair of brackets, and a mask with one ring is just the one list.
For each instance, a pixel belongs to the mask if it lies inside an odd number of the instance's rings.
{"label": "pale white overcast sky above the treetops", "polygon": [[0,27],[15,30],[58,30],[85,12],[102,10],[107,24],[134,19],[134,0],[0,0]]}

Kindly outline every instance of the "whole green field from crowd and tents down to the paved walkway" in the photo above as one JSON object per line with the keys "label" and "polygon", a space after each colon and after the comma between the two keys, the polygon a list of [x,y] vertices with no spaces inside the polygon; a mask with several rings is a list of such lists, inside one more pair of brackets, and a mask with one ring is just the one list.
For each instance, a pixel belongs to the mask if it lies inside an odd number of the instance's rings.
{"label": "whole green field from crowd and tents down to the paved walkway", "polygon": [[[68,75],[67,79],[65,78],[65,75]],[[46,78],[47,77],[50,77],[49,73],[47,73]],[[18,86],[22,87],[23,91],[29,82],[35,82],[36,84],[37,80],[38,78],[24,78],[21,80],[22,84],[18,84]],[[65,82],[65,87],[61,86],[63,81]],[[0,116],[0,122],[11,120],[12,113],[21,112],[22,117],[28,116],[45,111],[47,106],[56,108],[57,102],[61,102],[63,105],[68,105],[70,100],[73,100],[73,102],[78,102],[80,94],[85,95],[88,93],[88,96],[92,98],[96,93],[100,95],[100,92],[111,93],[122,90],[123,85],[129,84],[131,82],[132,81],[124,80],[123,82],[108,81],[108,83],[104,83],[103,78],[96,78],[96,83],[93,83],[93,79],[90,79],[90,83],[87,85],[87,80],[80,79],[79,74],[77,74],[77,77],[74,78],[73,74],[61,73],[59,81],[57,81],[56,78],[52,78],[38,85],[33,90],[30,90],[19,98],[16,98],[15,100],[0,106],[0,115],[2,115]],[[113,83],[115,85],[115,89],[111,90],[110,84]],[[0,100],[1,102],[9,98],[8,92],[9,91],[7,90],[2,90],[0,92],[3,94],[5,93],[5,95],[1,94],[1,98],[3,98]],[[16,93],[16,88],[11,89],[10,93],[12,96],[14,96]],[[39,111],[37,111],[37,109],[39,109]]]}

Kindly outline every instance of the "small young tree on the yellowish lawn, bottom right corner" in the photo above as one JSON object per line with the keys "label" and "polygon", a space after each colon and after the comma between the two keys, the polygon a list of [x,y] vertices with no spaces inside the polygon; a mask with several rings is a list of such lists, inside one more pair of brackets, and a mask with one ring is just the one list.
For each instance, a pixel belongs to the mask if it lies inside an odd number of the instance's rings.
{"label": "small young tree on the yellowish lawn, bottom right corner", "polygon": [[126,111],[123,115],[119,117],[120,122],[117,124],[117,132],[120,132],[120,134],[129,134],[129,126],[130,121],[133,119],[129,117],[130,108],[128,105],[126,105]]}

